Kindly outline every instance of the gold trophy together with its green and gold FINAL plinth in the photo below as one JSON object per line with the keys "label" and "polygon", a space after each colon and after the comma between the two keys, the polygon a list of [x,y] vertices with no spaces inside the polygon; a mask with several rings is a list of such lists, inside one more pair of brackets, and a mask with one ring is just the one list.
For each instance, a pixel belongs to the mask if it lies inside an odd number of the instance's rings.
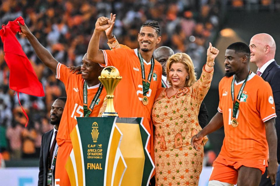
{"label": "gold trophy together with its green and gold FINAL plinth", "polygon": [[98,79],[107,91],[106,110],[102,117],[77,117],[65,166],[71,186],[148,186],[155,166],[143,118],[118,117],[113,105],[122,79],[118,69],[106,67]]}

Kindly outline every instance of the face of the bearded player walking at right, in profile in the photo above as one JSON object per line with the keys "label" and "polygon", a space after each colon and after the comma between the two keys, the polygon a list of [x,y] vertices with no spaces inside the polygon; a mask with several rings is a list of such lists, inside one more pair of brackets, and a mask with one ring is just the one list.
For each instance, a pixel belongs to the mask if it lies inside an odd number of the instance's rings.
{"label": "face of the bearded player walking at right, in profile", "polygon": [[242,56],[235,50],[227,49],[225,51],[225,76],[230,77],[241,69]]}

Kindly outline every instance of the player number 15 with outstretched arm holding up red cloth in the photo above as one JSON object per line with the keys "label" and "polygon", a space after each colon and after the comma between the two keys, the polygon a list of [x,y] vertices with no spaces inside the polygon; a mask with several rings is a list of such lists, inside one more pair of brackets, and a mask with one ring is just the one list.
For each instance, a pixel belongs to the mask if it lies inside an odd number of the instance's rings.
{"label": "player number 15 with outstretched arm holding up red cloth", "polygon": [[26,36],[40,60],[50,68],[56,78],[65,85],[67,99],[64,114],[57,133],[57,162],[55,165],[55,185],[69,186],[70,179],[65,168],[73,146],[70,133],[77,124],[76,117],[97,117],[106,96],[106,90],[99,82],[98,76],[103,69],[97,63],[88,60],[87,54],[82,59],[81,74],[73,74],[62,63],[57,62],[51,53],[43,47],[27,26],[20,25],[22,33]]}

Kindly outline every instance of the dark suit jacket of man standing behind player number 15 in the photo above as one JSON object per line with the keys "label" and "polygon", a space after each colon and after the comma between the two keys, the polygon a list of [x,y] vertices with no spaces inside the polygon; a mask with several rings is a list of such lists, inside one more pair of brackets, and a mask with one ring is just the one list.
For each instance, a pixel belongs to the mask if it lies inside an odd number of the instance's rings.
{"label": "dark suit jacket of man standing behind player number 15", "polygon": [[48,157],[50,154],[50,142],[52,140],[52,136],[53,130],[44,133],[42,136],[38,186],[47,185]]}

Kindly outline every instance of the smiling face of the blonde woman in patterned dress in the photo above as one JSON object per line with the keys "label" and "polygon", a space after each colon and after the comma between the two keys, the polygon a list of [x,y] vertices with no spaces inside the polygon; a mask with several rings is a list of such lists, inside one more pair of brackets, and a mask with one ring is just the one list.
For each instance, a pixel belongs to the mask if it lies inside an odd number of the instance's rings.
{"label": "smiling face of the blonde woman in patterned dress", "polygon": [[185,87],[186,78],[189,75],[185,65],[181,62],[172,63],[168,73],[168,79],[175,88]]}

